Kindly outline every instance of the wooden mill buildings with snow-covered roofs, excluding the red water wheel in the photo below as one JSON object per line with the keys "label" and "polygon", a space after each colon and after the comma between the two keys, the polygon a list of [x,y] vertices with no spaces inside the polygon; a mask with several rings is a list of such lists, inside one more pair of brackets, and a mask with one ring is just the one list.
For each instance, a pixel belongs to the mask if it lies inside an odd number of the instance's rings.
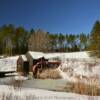
{"label": "wooden mill buildings with snow-covered roofs, excluding the red water wheel", "polygon": [[26,55],[19,56],[17,60],[17,72],[21,75],[27,75],[33,73],[33,66],[37,64],[37,62],[48,61],[44,57],[42,52],[27,52]]}

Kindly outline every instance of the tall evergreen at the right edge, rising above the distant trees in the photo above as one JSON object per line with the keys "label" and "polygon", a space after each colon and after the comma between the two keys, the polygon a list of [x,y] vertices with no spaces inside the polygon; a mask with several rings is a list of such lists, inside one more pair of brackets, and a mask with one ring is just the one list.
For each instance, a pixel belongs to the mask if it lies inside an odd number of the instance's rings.
{"label": "tall evergreen at the right edge, rising above the distant trees", "polygon": [[100,57],[100,21],[96,21],[90,36],[90,50],[93,56]]}

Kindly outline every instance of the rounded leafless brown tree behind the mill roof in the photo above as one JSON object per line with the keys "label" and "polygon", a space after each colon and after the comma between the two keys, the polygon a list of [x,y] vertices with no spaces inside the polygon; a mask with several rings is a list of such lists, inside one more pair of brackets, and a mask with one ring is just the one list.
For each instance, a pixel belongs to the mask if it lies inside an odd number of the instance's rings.
{"label": "rounded leafless brown tree behind the mill roof", "polygon": [[31,51],[44,51],[48,50],[49,38],[47,32],[39,29],[33,32],[28,41],[28,48]]}

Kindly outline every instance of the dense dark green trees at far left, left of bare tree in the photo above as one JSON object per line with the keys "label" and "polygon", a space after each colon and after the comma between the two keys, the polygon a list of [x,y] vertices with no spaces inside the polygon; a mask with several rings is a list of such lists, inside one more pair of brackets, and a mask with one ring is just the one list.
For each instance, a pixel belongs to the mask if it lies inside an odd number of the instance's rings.
{"label": "dense dark green trees at far left, left of bare tree", "polygon": [[15,28],[14,25],[0,27],[0,54],[15,55],[28,50],[28,31],[23,27]]}

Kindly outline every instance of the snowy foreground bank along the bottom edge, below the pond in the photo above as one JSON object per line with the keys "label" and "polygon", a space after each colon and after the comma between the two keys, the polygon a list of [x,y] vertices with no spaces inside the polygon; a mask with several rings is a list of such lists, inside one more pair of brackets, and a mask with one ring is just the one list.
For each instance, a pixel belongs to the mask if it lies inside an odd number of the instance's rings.
{"label": "snowy foreground bank along the bottom edge, below the pond", "polygon": [[54,92],[42,89],[0,86],[0,100],[99,100],[100,97],[79,95],[75,93]]}

